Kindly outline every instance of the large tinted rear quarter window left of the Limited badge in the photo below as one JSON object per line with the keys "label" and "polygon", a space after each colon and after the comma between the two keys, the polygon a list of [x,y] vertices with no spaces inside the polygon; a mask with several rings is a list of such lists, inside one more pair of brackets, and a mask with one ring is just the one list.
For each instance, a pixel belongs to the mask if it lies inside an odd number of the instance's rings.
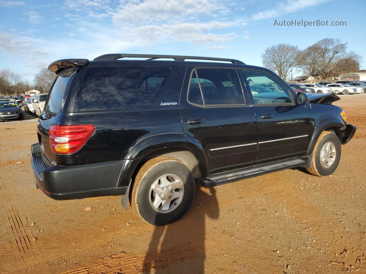
{"label": "large tinted rear quarter window left of the Limited badge", "polygon": [[90,67],[79,73],[70,98],[71,111],[137,109],[156,102],[170,68]]}

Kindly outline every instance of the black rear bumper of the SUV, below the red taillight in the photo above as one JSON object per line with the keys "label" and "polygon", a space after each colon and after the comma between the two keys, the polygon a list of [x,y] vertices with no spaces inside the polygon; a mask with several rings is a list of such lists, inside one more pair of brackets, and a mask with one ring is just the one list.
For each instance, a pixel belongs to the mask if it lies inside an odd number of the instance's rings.
{"label": "black rear bumper of the SUV, below the red taillight", "polygon": [[31,165],[37,187],[56,200],[123,195],[128,186],[118,187],[124,160],[81,165],[49,166],[39,144],[31,147]]}

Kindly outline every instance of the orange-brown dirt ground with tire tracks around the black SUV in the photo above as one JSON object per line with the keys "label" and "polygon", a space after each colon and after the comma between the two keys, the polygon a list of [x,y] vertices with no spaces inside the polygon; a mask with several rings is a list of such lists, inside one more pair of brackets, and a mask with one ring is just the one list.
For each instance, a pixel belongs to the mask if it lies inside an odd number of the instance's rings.
{"label": "orange-brown dirt ground with tire tracks around the black SUV", "polygon": [[197,188],[165,227],[116,196],[46,197],[30,165],[37,119],[1,123],[0,273],[366,273],[366,94],[340,96],[358,131],[333,175],[294,169]]}

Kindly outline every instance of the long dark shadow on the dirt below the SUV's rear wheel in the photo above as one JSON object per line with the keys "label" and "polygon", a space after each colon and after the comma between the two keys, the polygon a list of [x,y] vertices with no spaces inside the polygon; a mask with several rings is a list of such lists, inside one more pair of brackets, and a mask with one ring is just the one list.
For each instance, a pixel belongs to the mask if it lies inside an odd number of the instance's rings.
{"label": "long dark shadow on the dirt below the SUV's rear wheel", "polygon": [[156,268],[157,273],[205,273],[207,218],[219,218],[216,190],[197,187],[192,210],[186,216],[154,229],[141,272],[155,273],[152,269]]}

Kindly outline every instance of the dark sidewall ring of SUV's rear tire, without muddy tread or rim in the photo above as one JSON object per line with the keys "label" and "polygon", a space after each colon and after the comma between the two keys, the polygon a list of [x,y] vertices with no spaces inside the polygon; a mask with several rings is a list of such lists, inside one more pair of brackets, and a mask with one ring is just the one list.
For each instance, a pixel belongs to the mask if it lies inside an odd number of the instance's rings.
{"label": "dark sidewall ring of SUV's rear tire, without muddy tread or rim", "polygon": [[[168,213],[156,212],[149,202],[150,188],[160,176],[174,174],[183,180],[184,195],[179,206]],[[166,225],[175,222],[187,213],[192,205],[195,193],[195,183],[191,172],[183,164],[166,161],[154,167],[144,176],[137,191],[136,203],[140,216],[152,225]]]}

